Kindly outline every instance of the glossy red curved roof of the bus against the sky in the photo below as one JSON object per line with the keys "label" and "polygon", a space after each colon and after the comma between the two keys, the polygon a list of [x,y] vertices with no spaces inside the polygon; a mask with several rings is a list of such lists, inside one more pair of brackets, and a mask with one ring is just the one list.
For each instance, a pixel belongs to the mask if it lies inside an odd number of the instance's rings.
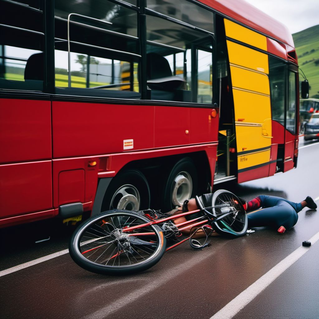
{"label": "glossy red curved roof of the bus against the sky", "polygon": [[226,16],[294,48],[288,28],[244,0],[198,0]]}

